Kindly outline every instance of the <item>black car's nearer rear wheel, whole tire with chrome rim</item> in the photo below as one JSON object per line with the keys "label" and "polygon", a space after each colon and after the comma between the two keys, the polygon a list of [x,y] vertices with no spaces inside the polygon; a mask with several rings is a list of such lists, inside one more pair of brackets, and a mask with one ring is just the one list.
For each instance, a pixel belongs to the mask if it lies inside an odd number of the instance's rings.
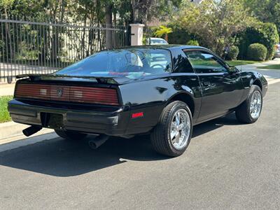
{"label": "black car's nearer rear wheel, whole tire with chrome rim", "polygon": [[182,155],[193,134],[193,118],[188,105],[176,101],[162,111],[158,125],[151,134],[153,148],[162,155]]}

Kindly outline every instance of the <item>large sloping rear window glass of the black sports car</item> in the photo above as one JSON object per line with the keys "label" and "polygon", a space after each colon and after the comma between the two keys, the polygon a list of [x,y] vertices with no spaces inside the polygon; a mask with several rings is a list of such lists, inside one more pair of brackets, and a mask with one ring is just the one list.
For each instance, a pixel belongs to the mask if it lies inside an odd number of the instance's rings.
{"label": "large sloping rear window glass of the black sports car", "polygon": [[128,48],[97,52],[76,62],[56,75],[114,76],[139,78],[172,70],[169,50],[158,48]]}

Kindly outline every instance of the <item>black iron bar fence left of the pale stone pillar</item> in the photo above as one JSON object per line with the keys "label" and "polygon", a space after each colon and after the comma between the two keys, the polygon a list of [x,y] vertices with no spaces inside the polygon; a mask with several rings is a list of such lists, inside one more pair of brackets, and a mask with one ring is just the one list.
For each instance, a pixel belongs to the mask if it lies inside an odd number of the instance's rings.
{"label": "black iron bar fence left of the pale stone pillar", "polygon": [[0,83],[25,73],[52,73],[105,48],[129,44],[121,26],[69,25],[0,16]]}

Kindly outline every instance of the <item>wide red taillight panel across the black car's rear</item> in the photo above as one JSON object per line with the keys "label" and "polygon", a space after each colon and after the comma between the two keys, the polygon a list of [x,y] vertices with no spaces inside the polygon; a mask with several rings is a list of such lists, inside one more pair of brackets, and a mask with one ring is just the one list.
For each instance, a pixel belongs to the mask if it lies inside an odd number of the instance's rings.
{"label": "wide red taillight panel across the black car's rear", "polygon": [[117,90],[107,87],[18,84],[15,90],[15,97],[119,105]]}

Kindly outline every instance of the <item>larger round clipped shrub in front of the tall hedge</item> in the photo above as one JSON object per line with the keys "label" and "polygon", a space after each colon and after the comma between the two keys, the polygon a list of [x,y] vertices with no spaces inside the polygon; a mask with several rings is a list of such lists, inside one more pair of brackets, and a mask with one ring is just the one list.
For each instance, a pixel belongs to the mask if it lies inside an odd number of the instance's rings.
{"label": "larger round clipped shrub in front of the tall hedge", "polygon": [[253,43],[248,47],[247,57],[251,60],[264,61],[267,57],[267,48],[260,43]]}

